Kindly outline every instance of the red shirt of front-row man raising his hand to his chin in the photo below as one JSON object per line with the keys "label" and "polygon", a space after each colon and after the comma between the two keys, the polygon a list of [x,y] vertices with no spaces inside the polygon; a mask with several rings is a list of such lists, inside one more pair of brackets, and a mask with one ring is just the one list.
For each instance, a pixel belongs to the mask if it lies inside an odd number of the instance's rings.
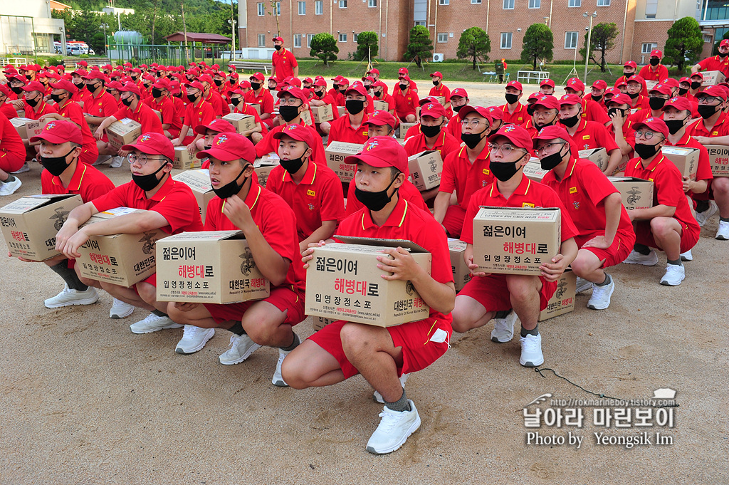
{"label": "red shirt of front-row man raising his hand to his chin", "polygon": [[[289,271],[286,272],[286,279],[281,286],[301,292],[306,284],[306,273],[299,253],[296,214],[280,196],[270,190],[265,190],[258,185],[258,182],[253,180],[251,182],[251,188],[245,200],[246,206],[251,211],[251,217],[271,249],[291,261]],[[208,202],[205,230],[239,229],[223,214],[224,206],[225,200],[218,197],[214,197]]]}

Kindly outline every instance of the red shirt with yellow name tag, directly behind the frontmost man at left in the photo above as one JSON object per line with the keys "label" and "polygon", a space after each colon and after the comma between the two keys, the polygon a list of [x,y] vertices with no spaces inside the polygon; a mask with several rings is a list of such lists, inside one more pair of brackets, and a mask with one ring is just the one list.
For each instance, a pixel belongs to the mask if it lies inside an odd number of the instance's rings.
{"label": "red shirt with yellow name tag, directly behind the frontmost man at left", "polygon": [[311,236],[324,221],[344,218],[344,195],[339,177],[326,165],[309,163],[304,178],[295,183],[284,167],[271,170],[266,190],[281,195],[296,214],[299,241]]}

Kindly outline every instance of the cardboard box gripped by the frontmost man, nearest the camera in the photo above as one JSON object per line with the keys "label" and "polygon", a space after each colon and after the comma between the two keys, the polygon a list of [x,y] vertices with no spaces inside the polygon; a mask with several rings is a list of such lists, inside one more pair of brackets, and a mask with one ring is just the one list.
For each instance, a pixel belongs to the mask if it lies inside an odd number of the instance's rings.
{"label": "cardboard box gripped by the frontmost man, nearest the camera", "polygon": [[410,241],[335,236],[343,243],[316,248],[306,270],[305,313],[378,327],[416,322],[430,309],[411,282],[386,281],[377,268],[382,249],[402,247],[428,273],[431,255]]}

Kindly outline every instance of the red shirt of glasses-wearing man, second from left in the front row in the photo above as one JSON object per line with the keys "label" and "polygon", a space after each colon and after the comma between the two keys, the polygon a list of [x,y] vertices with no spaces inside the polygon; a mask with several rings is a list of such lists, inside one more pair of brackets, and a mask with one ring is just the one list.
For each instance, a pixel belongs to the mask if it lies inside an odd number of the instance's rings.
{"label": "red shirt of glasses-wearing man, second from left in the front row", "polygon": [[[156,117],[156,115],[155,115]],[[155,211],[167,220],[168,225],[162,228],[165,233],[178,234],[203,230],[203,221],[198,211],[198,201],[190,187],[182,182],[175,182],[171,174],[160,190],[147,198],[144,190],[133,181],[127,182],[111,190],[106,195],[95,198],[92,202],[98,212],[108,211],[116,207],[132,207]]]}

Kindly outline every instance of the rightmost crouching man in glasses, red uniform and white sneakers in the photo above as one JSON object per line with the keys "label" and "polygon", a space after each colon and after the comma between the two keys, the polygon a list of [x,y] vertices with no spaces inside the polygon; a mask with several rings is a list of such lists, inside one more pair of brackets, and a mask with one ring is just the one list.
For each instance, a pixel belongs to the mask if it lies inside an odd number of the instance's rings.
{"label": "rightmost crouching man in glasses, red uniform and white sneakers", "polygon": [[623,261],[628,264],[653,266],[658,255],[652,248],[666,252],[666,273],[660,284],[678,286],[685,279],[681,253],[698,241],[698,227],[683,193],[681,172],[660,149],[666,144],[668,127],[659,118],[636,123],[636,155],[628,161],[625,176],[653,182],[653,206],[629,212],[636,231],[636,244]]}

